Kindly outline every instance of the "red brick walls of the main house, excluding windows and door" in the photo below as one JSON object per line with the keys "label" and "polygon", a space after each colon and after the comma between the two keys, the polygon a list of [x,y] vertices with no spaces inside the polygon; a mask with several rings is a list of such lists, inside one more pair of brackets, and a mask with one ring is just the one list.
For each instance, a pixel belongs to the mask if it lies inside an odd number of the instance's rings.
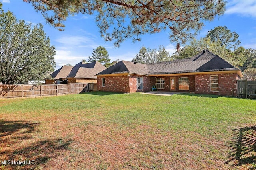
{"label": "red brick walls of the main house, excluding windows and door", "polygon": [[[210,75],[218,75],[218,92],[210,92]],[[143,77],[143,90],[137,90],[137,77]],[[195,92],[198,94],[217,94],[225,96],[236,96],[236,73],[230,74],[199,74],[175,77],[176,92]],[[181,77],[189,78],[189,90],[179,90],[178,80]],[[102,87],[102,77],[97,78],[97,90],[110,92],[146,92],[151,91],[153,85],[156,85],[156,77],[130,75],[130,76],[106,76],[105,87]],[[170,77],[165,76],[164,89],[158,91],[170,91]]]}

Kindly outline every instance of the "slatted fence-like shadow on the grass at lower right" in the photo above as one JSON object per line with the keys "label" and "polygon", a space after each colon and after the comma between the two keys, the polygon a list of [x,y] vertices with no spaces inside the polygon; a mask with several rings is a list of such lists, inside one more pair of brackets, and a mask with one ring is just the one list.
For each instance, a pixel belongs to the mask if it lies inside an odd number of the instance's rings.
{"label": "slatted fence-like shadow on the grass at lower right", "polygon": [[[230,149],[230,160],[237,160],[235,166],[256,164],[256,126],[234,129]],[[255,167],[251,168],[254,169]]]}

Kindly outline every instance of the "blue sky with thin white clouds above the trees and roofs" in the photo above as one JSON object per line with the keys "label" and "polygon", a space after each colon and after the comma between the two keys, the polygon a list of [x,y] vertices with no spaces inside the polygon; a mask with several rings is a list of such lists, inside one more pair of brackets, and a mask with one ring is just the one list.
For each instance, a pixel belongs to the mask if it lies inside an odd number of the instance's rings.
{"label": "blue sky with thin white clouds above the trees and roofs", "polygon": [[[64,24],[64,31],[58,31],[46,24],[42,15],[34,10],[31,4],[22,0],[0,0],[3,10],[10,10],[17,19],[31,22],[32,24],[42,23],[44,31],[50,37],[51,44],[56,48],[55,62],[56,69],[68,63],[75,65],[82,59],[88,60],[92,50],[98,46],[107,49],[111,61],[116,59],[131,61],[139,52],[142,46],[146,48],[158,48],[163,45],[170,54],[175,52],[175,44],[168,39],[168,30],[156,34],[143,35],[142,41],[132,43],[128,39],[115,48],[111,42],[105,42],[100,37],[99,29],[94,22],[94,17],[78,14],[68,18]],[[228,0],[224,15],[216,17],[212,22],[205,22],[197,39],[205,37],[208,31],[217,26],[226,26],[232,32],[239,35],[241,46],[256,49],[256,0]]]}

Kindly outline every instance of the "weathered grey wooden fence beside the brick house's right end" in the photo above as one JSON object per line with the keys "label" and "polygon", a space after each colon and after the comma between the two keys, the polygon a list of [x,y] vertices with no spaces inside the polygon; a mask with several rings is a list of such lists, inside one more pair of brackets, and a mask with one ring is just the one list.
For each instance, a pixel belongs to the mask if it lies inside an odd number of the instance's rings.
{"label": "weathered grey wooden fence beside the brick house's right end", "polygon": [[256,81],[237,80],[237,97],[256,98]]}

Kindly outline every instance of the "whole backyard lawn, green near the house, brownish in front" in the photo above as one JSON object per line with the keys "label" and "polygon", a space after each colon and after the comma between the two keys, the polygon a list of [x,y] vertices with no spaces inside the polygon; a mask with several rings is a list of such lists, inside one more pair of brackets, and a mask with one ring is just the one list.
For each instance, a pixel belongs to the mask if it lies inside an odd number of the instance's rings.
{"label": "whole backyard lawn, green near the house, brownish in front", "polygon": [[84,94],[0,100],[2,169],[255,169],[256,100]]}

